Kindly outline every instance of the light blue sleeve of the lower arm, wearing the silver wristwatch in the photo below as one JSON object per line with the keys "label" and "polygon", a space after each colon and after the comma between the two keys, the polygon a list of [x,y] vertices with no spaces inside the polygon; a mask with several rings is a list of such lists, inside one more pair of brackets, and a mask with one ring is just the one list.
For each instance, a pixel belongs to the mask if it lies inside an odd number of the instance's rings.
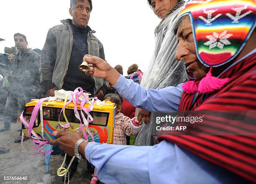
{"label": "light blue sleeve of the lower arm, wearing the silver wristwatch", "polygon": [[105,184],[245,183],[235,174],[167,141],[141,147],[90,142],[84,152]]}

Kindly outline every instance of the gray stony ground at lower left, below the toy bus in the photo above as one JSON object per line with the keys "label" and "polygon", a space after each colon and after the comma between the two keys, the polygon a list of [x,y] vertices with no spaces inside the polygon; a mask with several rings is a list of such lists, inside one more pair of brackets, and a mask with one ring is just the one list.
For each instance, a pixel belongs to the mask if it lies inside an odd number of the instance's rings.
{"label": "gray stony ground at lower left, below the toy bus", "polygon": [[[3,127],[3,120],[0,119],[0,128]],[[23,142],[25,149],[20,143],[14,143],[14,139],[19,136],[17,130],[20,123],[11,123],[11,129],[0,132],[0,147],[10,149],[9,153],[0,154],[0,184],[63,184],[61,177],[56,172],[61,166],[64,157],[52,155],[50,159],[49,172],[45,171],[45,160],[43,154],[31,156],[28,152],[33,152],[31,147],[35,144],[30,140]],[[35,152],[35,151],[34,151]],[[91,177],[87,171],[86,161],[80,161],[77,172],[69,182],[70,184],[89,184]],[[4,176],[27,176],[26,182],[6,182]],[[66,182],[67,183],[67,182]]]}

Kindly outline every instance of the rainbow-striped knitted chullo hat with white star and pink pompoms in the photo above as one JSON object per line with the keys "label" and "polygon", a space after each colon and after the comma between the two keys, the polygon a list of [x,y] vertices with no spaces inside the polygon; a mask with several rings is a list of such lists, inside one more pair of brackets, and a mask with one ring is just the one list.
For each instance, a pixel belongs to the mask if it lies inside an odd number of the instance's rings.
{"label": "rainbow-striped knitted chullo hat with white star and pink pompoms", "polygon": [[241,52],[256,25],[256,1],[188,0],[178,19],[184,15],[191,20],[197,58],[210,71],[202,80],[188,81],[182,88],[187,93],[218,90],[229,79],[212,77],[212,67],[230,62]]}

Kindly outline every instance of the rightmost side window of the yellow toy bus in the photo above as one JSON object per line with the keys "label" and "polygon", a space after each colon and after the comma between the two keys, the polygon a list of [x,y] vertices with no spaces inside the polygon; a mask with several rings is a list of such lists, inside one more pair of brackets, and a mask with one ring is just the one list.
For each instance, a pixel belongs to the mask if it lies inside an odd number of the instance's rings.
{"label": "rightmost side window of the yellow toy bus", "polygon": [[[85,114],[83,112],[85,118],[87,118],[87,114]],[[100,126],[107,126],[108,124],[108,116],[109,113],[108,112],[96,112],[96,111],[91,111],[90,112],[93,121],[90,122],[90,124],[94,124],[94,125],[100,125]]]}

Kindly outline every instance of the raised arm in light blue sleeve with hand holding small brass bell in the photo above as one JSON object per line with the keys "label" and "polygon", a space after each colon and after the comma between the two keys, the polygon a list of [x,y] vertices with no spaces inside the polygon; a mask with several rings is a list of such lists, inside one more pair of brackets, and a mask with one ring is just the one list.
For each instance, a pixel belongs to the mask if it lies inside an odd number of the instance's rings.
{"label": "raised arm in light blue sleeve with hand holding small brass bell", "polygon": [[182,96],[182,84],[177,87],[164,89],[144,89],[133,80],[127,80],[113,67],[99,57],[85,55],[84,59],[89,63],[90,72],[87,75],[105,78],[127,99],[134,107],[147,109],[148,111],[172,112],[179,107]]}

